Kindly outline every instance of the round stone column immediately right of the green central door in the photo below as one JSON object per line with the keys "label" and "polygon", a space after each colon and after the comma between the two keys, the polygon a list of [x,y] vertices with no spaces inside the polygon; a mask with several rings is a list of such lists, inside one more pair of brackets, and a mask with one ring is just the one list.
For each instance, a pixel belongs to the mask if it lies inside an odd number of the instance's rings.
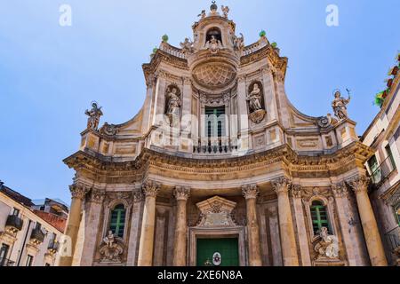
{"label": "round stone column immediately right of the green central door", "polygon": [[247,232],[249,236],[249,264],[261,266],[260,229],[257,221],[256,199],[259,194],[257,185],[244,185],[242,193],[246,199]]}

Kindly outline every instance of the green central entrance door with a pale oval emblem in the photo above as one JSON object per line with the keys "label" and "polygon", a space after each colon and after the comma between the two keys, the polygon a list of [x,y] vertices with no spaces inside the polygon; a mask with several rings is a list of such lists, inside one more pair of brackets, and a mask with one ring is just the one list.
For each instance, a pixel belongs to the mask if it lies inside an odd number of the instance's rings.
{"label": "green central entrance door with a pale oval emblem", "polygon": [[[220,266],[239,266],[239,248],[237,238],[197,239],[197,266],[205,266],[207,260],[212,264],[212,256],[219,252]],[[212,264],[213,265],[213,264]]]}

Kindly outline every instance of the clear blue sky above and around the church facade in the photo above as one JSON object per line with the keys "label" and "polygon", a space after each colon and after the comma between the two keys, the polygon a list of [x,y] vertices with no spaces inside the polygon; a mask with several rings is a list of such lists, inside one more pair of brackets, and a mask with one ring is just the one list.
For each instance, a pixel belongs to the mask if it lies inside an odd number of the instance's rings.
{"label": "clear blue sky above and around the church facade", "polygon": [[[167,34],[179,46],[211,1],[0,0],[0,179],[32,199],[69,202],[84,110],[96,100],[101,122],[126,122],[145,97],[141,64]],[[60,27],[59,8],[72,8]],[[261,29],[289,58],[286,92],[305,114],[332,112],[332,91],[349,88],[350,117],[363,133],[379,109],[388,68],[400,50],[398,0],[218,1],[245,43]],[[339,27],[325,24],[328,4]]]}

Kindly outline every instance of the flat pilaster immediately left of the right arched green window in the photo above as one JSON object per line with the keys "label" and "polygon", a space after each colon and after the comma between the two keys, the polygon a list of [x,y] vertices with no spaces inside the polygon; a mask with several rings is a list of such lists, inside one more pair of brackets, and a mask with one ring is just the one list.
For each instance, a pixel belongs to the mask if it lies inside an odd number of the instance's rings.
{"label": "flat pilaster immediately left of the right arched green window", "polygon": [[297,232],[299,233],[301,265],[311,266],[308,248],[308,235],[306,231],[306,224],[304,222],[304,212],[301,201],[302,189],[300,185],[293,185],[292,187],[294,215],[296,216],[296,227]]}

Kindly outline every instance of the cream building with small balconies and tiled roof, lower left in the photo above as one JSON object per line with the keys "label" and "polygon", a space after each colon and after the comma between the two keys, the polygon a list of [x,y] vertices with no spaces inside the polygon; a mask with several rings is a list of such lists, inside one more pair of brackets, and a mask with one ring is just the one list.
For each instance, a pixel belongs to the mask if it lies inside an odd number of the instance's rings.
{"label": "cream building with small balconies and tiled roof, lower left", "polygon": [[0,266],[54,265],[67,217],[64,204],[36,204],[0,182]]}

